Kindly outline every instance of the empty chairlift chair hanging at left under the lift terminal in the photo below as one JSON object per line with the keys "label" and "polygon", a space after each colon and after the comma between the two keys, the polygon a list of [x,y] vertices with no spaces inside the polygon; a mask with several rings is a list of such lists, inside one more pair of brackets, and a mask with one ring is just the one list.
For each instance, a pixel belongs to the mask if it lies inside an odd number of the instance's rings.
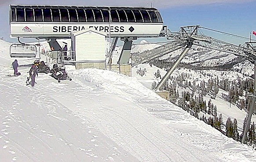
{"label": "empty chairlift chair hanging at left under the lift terminal", "polygon": [[12,44],[10,56],[11,58],[36,58],[37,47],[33,44]]}

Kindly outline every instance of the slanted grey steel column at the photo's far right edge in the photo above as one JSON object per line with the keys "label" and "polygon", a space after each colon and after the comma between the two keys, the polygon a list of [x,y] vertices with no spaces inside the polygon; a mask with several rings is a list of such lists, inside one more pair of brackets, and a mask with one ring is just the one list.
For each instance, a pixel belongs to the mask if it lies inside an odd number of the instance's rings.
{"label": "slanted grey steel column at the photo's far right edge", "polygon": [[241,140],[242,144],[245,144],[247,132],[250,128],[250,123],[251,123],[251,119],[252,119],[252,113],[254,110],[255,101],[256,101],[256,60],[254,61],[254,96],[252,96],[249,112],[247,114],[246,124],[245,124],[245,128],[243,130],[243,137]]}

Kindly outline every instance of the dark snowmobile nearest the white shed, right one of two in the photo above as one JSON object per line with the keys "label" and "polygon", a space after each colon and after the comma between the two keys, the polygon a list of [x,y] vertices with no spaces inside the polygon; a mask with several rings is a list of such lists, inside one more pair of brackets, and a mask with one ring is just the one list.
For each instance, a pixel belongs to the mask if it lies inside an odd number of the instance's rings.
{"label": "dark snowmobile nearest the white shed, right one of two", "polygon": [[51,77],[55,78],[58,80],[60,83],[61,80],[72,80],[69,76],[68,73],[66,72],[66,69],[64,66],[59,66],[57,64],[53,65],[53,68],[51,69]]}

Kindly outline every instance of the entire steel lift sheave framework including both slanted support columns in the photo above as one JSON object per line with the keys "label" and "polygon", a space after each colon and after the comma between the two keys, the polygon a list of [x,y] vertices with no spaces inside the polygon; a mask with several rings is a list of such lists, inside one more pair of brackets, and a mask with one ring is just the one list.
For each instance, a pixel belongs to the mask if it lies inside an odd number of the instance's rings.
{"label": "entire steel lift sheave framework including both slanted support columns", "polygon": [[[171,46],[173,49],[172,51],[174,51],[175,49],[177,50],[179,49],[179,46],[184,45],[185,49],[180,54],[179,58],[176,60],[174,65],[165,74],[163,79],[161,79],[161,82],[158,83],[158,85],[154,89],[155,91],[161,90],[162,86],[164,86],[164,84],[169,79],[172,72],[179,65],[180,61],[186,56],[187,52],[190,50],[192,45],[207,47],[213,50],[223,51],[226,53],[234,54],[238,57],[248,59],[249,61],[251,61],[252,63],[254,62],[255,64],[254,72],[256,76],[256,46],[255,46],[256,40],[253,40],[255,42],[252,42],[251,41],[252,39],[250,39],[249,42],[245,42],[243,45],[234,45],[221,40],[213,39],[210,36],[205,36],[201,31],[201,29],[212,30],[212,29],[200,27],[199,25],[181,27],[179,32],[166,33],[167,40],[179,42],[178,44],[174,44],[173,42],[166,43],[165,45],[160,46],[154,50],[145,51],[141,54],[135,54],[132,56],[132,60],[134,61],[133,65],[138,65],[170,53],[167,50],[169,45],[172,45]],[[212,30],[212,31],[219,32],[216,30]],[[229,34],[226,32],[219,32],[219,33],[226,34],[229,36],[235,36],[242,39],[248,39],[242,36],[236,36],[234,34]],[[256,80],[254,80],[254,95],[252,96],[251,103],[255,103],[255,101],[256,101]],[[255,104],[251,104],[249,108],[249,113],[246,116],[247,120],[246,120],[245,128],[243,130],[243,137],[242,137],[241,143],[245,143],[246,135],[249,130],[251,117],[254,110],[254,105]]]}

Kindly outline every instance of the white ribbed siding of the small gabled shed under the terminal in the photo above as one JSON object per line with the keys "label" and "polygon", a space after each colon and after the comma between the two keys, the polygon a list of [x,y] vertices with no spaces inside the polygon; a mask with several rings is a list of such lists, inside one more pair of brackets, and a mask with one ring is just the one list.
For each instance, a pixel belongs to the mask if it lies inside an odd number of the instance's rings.
{"label": "white ribbed siding of the small gabled shed under the terminal", "polygon": [[76,61],[99,61],[106,58],[105,36],[85,32],[75,38]]}

